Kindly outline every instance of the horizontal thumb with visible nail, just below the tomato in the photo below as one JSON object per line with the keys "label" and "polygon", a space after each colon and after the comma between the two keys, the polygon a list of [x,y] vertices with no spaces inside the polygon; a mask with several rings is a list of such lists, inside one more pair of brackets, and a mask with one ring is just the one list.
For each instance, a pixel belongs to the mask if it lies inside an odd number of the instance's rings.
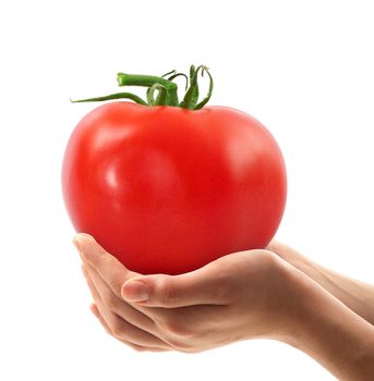
{"label": "horizontal thumb with visible nail, just below the tomato", "polygon": [[177,308],[193,305],[224,305],[228,284],[212,267],[181,275],[143,275],[128,280],[122,297],[148,307]]}

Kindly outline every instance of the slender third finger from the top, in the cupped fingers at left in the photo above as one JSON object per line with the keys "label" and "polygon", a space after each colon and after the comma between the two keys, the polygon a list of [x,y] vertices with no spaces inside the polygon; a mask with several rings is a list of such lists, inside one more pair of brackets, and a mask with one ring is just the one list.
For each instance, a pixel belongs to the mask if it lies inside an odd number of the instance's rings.
{"label": "slender third finger from the top, in the cupped fingers at left", "polygon": [[149,332],[143,331],[140,328],[130,324],[125,320],[121,319],[116,314],[111,312],[102,303],[100,294],[96,290],[92,279],[89,278],[89,273],[85,271],[85,276],[87,279],[87,283],[89,290],[92,291],[93,297],[97,305],[97,308],[106,321],[111,334],[121,341],[129,342],[131,344],[135,344],[144,347],[155,347],[155,348],[164,348],[170,349],[171,346],[159,337],[156,337]]}

